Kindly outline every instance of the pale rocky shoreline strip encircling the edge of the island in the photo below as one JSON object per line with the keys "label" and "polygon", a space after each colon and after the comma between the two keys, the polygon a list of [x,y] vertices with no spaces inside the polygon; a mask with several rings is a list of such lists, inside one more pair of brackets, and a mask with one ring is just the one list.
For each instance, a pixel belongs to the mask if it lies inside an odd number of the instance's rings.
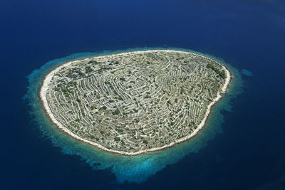
{"label": "pale rocky shoreline strip encircling the edge of the island", "polygon": [[[132,53],[145,53],[145,52],[160,52],[160,51],[164,51],[164,52],[183,52],[183,53],[192,53],[189,51],[177,51],[177,50],[147,50],[147,51],[129,51],[129,52],[125,52],[125,53],[113,53],[110,55],[103,55],[105,56],[116,56],[118,54],[120,55],[128,55],[128,54],[132,54]],[[210,60],[213,60],[214,62],[218,63],[219,65],[222,65],[221,63],[219,63],[218,60],[214,60],[213,58],[209,58],[208,56],[203,56],[199,53],[192,53],[192,54],[196,54],[198,56],[202,56],[203,58],[207,58]],[[101,56],[93,56],[93,57],[101,57]],[[138,154],[144,154],[147,152],[155,152],[158,150],[162,150],[162,149],[166,149],[168,147],[172,147],[175,144],[179,144],[181,142],[185,142],[188,139],[191,139],[192,137],[194,137],[196,134],[198,134],[198,132],[200,130],[202,130],[202,128],[204,127],[204,125],[207,122],[207,119],[210,115],[210,113],[212,112],[212,107],[219,102],[219,100],[222,99],[222,95],[221,93],[227,93],[227,88],[229,87],[229,84],[232,80],[232,74],[230,73],[229,69],[222,65],[222,68],[224,68],[224,70],[227,73],[227,79],[225,80],[224,85],[222,86],[221,90],[217,93],[217,97],[214,98],[214,100],[207,106],[207,111],[204,115],[204,118],[202,120],[202,122],[200,122],[200,124],[197,126],[197,129],[194,130],[190,135],[188,135],[187,137],[183,137],[181,139],[177,139],[175,142],[171,142],[170,144],[166,144],[162,147],[155,147],[155,148],[151,148],[151,149],[145,149],[145,150],[141,150],[139,152],[123,152],[123,151],[118,151],[118,150],[112,150],[112,149],[107,149],[105,147],[103,147],[102,145],[89,141],[87,139],[83,139],[82,137],[78,136],[78,134],[74,134],[73,132],[71,132],[71,130],[68,130],[67,127],[64,127],[61,122],[58,122],[58,120],[56,120],[56,117],[54,117],[53,112],[51,111],[49,105],[48,105],[48,101],[46,100],[46,90],[48,89],[48,83],[50,82],[51,78],[53,77],[54,73],[56,73],[58,70],[60,70],[61,68],[65,67],[66,65],[70,65],[72,63],[76,63],[79,62],[81,60],[89,60],[93,57],[90,58],[81,58],[78,60],[73,60],[73,61],[69,61],[67,63],[63,63],[61,65],[58,65],[56,68],[53,68],[53,70],[51,70],[48,74],[45,75],[45,77],[43,78],[43,80],[41,81],[41,88],[38,92],[38,96],[40,97],[39,99],[41,100],[41,105],[43,106],[43,110],[46,113],[46,115],[48,115],[48,118],[51,120],[51,122],[56,125],[56,127],[58,127],[58,129],[62,130],[63,132],[65,132],[66,134],[70,135],[71,137],[80,140],[81,142],[86,142],[87,144],[93,145],[95,147],[98,147],[99,149],[103,149],[106,152],[110,152],[110,153],[115,153],[115,154],[123,154],[123,155],[127,155],[127,156],[133,156],[133,155],[138,155]]]}

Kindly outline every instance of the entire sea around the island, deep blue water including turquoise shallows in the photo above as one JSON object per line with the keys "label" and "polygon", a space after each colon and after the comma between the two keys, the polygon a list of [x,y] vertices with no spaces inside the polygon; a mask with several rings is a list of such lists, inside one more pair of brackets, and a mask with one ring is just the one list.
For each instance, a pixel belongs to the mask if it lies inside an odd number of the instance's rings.
{"label": "entire sea around the island, deep blue water including turquoise shallows", "polygon": [[[45,117],[48,70],[153,48],[204,53],[234,75],[195,138],[122,157]],[[285,189],[284,1],[1,0],[0,58],[0,189]]]}

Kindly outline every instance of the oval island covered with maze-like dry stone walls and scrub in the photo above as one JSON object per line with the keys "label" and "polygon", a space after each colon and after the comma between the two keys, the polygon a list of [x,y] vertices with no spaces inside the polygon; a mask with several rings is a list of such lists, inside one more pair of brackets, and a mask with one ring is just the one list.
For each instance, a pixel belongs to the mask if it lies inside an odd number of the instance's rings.
{"label": "oval island covered with maze-like dry stone walls and scrub", "polygon": [[149,50],[63,63],[39,96],[63,132],[107,152],[136,155],[194,137],[232,76],[198,53]]}

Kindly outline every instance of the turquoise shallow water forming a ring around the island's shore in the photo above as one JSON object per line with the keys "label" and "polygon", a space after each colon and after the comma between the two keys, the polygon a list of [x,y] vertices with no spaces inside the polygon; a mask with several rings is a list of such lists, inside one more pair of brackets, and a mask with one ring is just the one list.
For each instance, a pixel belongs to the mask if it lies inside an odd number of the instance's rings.
{"label": "turquoise shallow water forming a ring around the island's shore", "polygon": [[[231,112],[232,101],[235,97],[237,97],[237,95],[239,95],[239,93],[242,93],[243,82],[239,71],[235,68],[232,68],[231,65],[224,63],[222,59],[215,58],[219,60],[219,62],[226,65],[229,70],[231,70],[233,80],[228,89],[228,93],[226,95],[223,95],[222,100],[212,108],[212,113],[209,116],[207,125],[204,127],[204,129],[187,142],[177,144],[174,147],[170,147],[162,151],[141,154],[133,157],[110,154],[108,152],[103,152],[100,149],[92,147],[89,144],[78,142],[76,139],[73,139],[72,137],[69,137],[68,135],[58,130],[57,127],[48,120],[48,117],[46,117],[41,107],[41,102],[39,102],[38,90],[41,85],[41,80],[50,70],[56,68],[56,66],[62,63],[66,63],[70,60],[76,60],[79,58],[88,58],[110,53],[121,53],[125,51],[139,51],[148,49],[162,48],[132,48],[120,51],[103,51],[101,53],[75,53],[65,58],[58,58],[48,61],[48,63],[43,65],[41,68],[33,70],[33,72],[28,75],[29,86],[28,92],[26,93],[24,99],[28,100],[28,103],[31,107],[30,114],[34,118],[36,125],[38,125],[43,135],[51,139],[53,146],[60,147],[64,154],[80,156],[93,169],[110,169],[110,171],[115,174],[116,180],[119,183],[123,183],[124,181],[145,181],[149,176],[152,176],[157,171],[164,169],[168,164],[175,164],[187,154],[195,154],[199,152],[199,150],[203,147],[206,147],[208,143],[211,143],[211,140],[213,140],[217,134],[222,133],[222,111],[227,110],[228,112]],[[190,51],[188,49],[181,48],[171,49]],[[209,55],[206,54],[205,56]],[[214,58],[214,56],[209,57]]]}

